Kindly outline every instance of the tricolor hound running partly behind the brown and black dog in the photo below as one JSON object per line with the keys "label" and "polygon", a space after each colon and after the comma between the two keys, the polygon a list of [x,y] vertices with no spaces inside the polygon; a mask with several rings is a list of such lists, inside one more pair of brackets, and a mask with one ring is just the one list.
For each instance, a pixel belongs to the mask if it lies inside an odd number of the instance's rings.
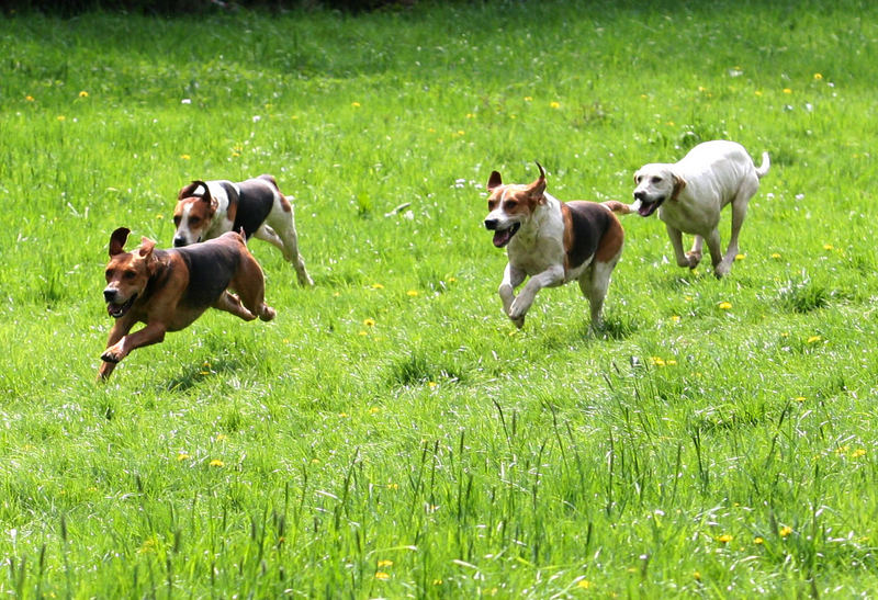
{"label": "tricolor hound running partly behind the brown and black dog", "polygon": [[272,176],[259,176],[239,183],[226,180],[193,181],[178,194],[173,210],[173,246],[180,248],[216,238],[226,231],[244,230],[283,252],[295,268],[300,285],[314,285],[299,253],[293,206]]}

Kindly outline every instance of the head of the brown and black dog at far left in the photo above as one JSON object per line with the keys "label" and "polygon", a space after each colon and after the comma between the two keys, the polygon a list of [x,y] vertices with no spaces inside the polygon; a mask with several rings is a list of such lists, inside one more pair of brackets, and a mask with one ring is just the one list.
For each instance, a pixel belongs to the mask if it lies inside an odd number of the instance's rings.
{"label": "head of the brown and black dog at far left", "polygon": [[124,227],[113,231],[110,238],[110,262],[104,271],[106,287],[103,290],[103,297],[106,312],[116,319],[124,317],[137,298],[143,296],[155,260],[155,241],[143,238],[138,250],[125,252],[123,247],[127,236],[128,230]]}

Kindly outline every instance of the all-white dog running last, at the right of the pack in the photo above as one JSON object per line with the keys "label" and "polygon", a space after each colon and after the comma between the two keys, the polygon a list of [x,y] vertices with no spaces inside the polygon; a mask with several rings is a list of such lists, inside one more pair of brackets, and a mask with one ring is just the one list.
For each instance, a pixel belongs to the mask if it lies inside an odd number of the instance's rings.
{"label": "all-white dog running last, at the right of the pack", "polygon": [[[707,240],[713,273],[721,278],[738,254],[738,234],[747,212],[747,202],[768,172],[768,152],[756,169],[743,146],[714,140],[699,144],[679,162],[644,165],[634,173],[634,203],[619,212],[637,212],[648,217],[658,210],[667,226],[677,264],[695,269]],[[720,211],[732,205],[732,236],[725,256],[720,250]],[[682,233],[695,234],[689,252],[683,250]]]}

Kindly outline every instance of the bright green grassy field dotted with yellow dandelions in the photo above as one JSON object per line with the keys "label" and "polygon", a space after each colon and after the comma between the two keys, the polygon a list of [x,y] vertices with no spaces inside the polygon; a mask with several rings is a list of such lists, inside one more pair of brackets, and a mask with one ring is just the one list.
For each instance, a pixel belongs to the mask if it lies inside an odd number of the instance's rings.
{"label": "bright green grassy field dotted with yellow dandelions", "polygon": [[[876,64],[855,0],[0,20],[0,592],[870,596]],[[730,276],[632,215],[606,331],[503,316],[493,169],[627,201],[712,138],[773,160]],[[95,384],[110,233],[262,172],[315,287],[254,241],[273,322]]]}

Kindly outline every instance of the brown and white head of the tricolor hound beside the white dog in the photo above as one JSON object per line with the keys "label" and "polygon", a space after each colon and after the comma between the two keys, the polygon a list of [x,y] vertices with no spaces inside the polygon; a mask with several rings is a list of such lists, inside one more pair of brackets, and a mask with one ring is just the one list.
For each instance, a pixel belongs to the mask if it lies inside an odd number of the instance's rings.
{"label": "brown and white head of the tricolor hound beside the white dog", "polygon": [[545,177],[540,168],[540,178],[533,183],[504,185],[500,174],[493,171],[487,189],[491,195],[487,199],[485,228],[494,231],[494,246],[503,248],[511,241],[537,206],[545,203]]}

